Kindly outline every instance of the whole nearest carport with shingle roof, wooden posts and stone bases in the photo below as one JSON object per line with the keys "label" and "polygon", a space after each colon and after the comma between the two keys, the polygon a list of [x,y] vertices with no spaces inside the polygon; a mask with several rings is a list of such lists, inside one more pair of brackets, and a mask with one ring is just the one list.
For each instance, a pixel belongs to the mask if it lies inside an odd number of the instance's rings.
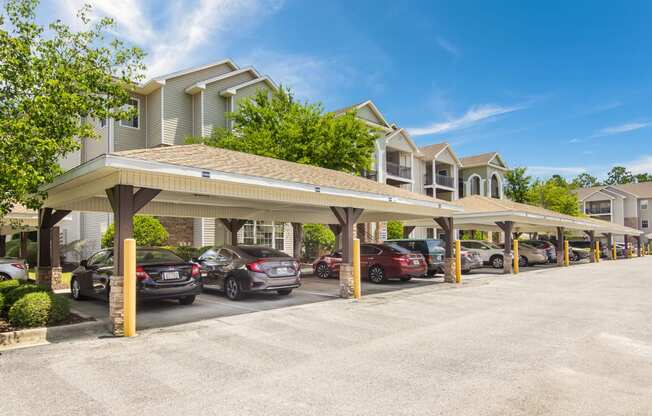
{"label": "whole nearest carport with shingle roof, wooden posts and stone bases", "polygon": [[[70,211],[114,214],[109,314],[116,334],[123,331],[122,246],[132,237],[136,213],[219,218],[233,234],[250,219],[335,224],[343,235],[342,260],[347,264],[352,260],[356,222],[432,222],[461,211],[453,203],[355,175],[205,145],[102,155],[59,176],[43,190],[48,198],[39,216],[41,284],[53,285],[57,274],[50,262],[49,229]],[[351,286],[351,275],[342,272],[340,295],[350,297]]]}

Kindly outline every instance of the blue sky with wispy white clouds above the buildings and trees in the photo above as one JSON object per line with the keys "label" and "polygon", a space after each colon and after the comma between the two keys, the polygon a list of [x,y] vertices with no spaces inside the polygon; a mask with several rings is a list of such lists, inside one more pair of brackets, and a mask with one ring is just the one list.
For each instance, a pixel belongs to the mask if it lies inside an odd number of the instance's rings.
{"label": "blue sky with wispy white clouds above the buildings and trees", "polygon": [[229,57],[328,110],[372,99],[418,145],[500,152],[534,175],[652,172],[652,2],[89,2],[149,75]]}

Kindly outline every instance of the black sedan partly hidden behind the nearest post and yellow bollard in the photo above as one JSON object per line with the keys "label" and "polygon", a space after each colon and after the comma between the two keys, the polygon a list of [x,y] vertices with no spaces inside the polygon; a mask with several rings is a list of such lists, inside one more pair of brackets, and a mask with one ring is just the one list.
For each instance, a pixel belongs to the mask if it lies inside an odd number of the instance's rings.
{"label": "black sedan partly hidden behind the nearest post and yellow bollard", "polygon": [[[73,299],[93,297],[108,300],[113,276],[113,249],[98,251],[82,260],[72,272]],[[178,299],[190,305],[201,293],[202,278],[197,264],[184,261],[161,248],[136,249],[136,298]]]}

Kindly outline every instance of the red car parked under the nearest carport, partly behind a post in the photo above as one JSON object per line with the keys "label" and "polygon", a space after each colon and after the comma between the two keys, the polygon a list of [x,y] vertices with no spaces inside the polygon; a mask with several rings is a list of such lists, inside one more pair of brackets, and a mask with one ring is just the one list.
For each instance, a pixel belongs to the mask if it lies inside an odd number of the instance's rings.
{"label": "red car parked under the nearest carport, partly behind a post", "polygon": [[[315,276],[328,279],[338,277],[342,252],[319,257],[312,264]],[[360,244],[360,272],[373,283],[387,279],[407,282],[413,277],[425,276],[428,266],[423,255],[390,244]]]}

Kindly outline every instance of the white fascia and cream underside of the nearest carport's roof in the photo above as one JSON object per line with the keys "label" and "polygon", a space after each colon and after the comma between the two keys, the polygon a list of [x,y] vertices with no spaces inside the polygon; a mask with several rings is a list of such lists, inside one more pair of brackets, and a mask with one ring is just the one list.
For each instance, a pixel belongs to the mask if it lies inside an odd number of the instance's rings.
{"label": "white fascia and cream underside of the nearest carport's roof", "polygon": [[102,155],[42,187],[45,207],[111,212],[106,189],[115,185],[161,192],[140,213],[192,218],[240,218],[302,223],[336,223],[330,207],[362,208],[361,222],[427,220],[462,208],[372,192],[206,170],[171,163]]}

